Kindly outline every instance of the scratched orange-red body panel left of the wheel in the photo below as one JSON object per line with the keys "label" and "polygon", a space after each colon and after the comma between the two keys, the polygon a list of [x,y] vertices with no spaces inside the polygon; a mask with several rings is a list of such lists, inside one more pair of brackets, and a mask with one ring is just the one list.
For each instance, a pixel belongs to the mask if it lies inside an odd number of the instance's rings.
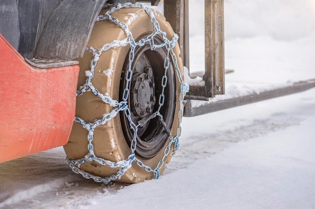
{"label": "scratched orange-red body panel left of the wheel", "polygon": [[0,162],[67,143],[78,71],[34,68],[0,34]]}

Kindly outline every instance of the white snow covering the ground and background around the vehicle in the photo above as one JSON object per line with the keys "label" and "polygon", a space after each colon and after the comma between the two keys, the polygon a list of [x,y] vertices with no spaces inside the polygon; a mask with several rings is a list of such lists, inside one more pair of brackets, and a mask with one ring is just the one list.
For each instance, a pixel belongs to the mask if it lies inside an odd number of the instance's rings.
{"label": "white snow covering the ground and background around the vehicle", "polygon": [[[203,1],[191,2],[199,71]],[[312,0],[226,0],[226,88],[315,78],[314,14]],[[161,178],[132,185],[72,173],[58,147],[0,164],[0,208],[315,208],[314,124],[315,89],[184,118]]]}

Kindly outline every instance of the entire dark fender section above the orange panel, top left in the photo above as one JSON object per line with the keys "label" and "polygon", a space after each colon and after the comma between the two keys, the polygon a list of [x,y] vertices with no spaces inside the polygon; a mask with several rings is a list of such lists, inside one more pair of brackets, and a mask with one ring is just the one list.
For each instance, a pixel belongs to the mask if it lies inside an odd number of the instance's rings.
{"label": "entire dark fender section above the orange panel, top left", "polygon": [[95,19],[105,3],[160,0],[0,0],[0,33],[32,59],[83,56]]}

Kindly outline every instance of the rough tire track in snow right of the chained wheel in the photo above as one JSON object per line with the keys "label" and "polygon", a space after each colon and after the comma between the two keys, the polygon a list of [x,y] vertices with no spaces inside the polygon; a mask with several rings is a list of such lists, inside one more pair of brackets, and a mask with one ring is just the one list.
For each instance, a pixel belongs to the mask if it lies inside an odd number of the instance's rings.
{"label": "rough tire track in snow right of the chained wheel", "polygon": [[[186,141],[181,144],[180,149],[172,157],[167,169],[163,174],[171,173],[174,170],[186,168],[198,159],[211,157],[235,143],[247,141],[252,138],[267,135],[270,132],[283,130],[287,127],[299,125],[300,118],[283,117],[281,113],[273,115],[265,120],[254,120],[250,125],[236,127],[233,130],[220,131],[218,133],[185,136]],[[189,140],[187,140],[189,138]]]}

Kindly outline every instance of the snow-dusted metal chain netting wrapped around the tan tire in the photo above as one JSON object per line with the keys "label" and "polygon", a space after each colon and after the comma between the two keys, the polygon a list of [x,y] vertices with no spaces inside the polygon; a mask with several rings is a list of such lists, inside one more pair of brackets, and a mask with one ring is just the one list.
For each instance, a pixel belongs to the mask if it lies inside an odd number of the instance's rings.
{"label": "snow-dusted metal chain netting wrapped around the tan tire", "polygon": [[[179,137],[181,136],[181,131],[182,131],[181,121],[183,118],[183,101],[184,101],[184,96],[185,96],[186,92],[189,91],[189,86],[187,84],[184,84],[184,81],[183,81],[183,78],[182,78],[178,63],[177,63],[177,57],[173,51],[175,43],[178,40],[178,36],[176,34],[174,34],[173,39],[168,40],[168,38],[166,37],[166,33],[161,31],[159,22],[156,21],[155,16],[154,16],[153,12],[151,11],[151,9],[144,7],[141,4],[131,4],[131,3],[113,4],[113,5],[106,4],[104,7],[107,7],[110,9],[105,14],[97,17],[96,21],[103,21],[103,20],[111,21],[112,23],[118,25],[124,31],[127,38],[125,40],[122,40],[122,41],[115,40],[109,44],[105,44],[101,49],[94,49],[92,47],[87,47],[86,51],[92,53],[93,59],[92,59],[91,64],[90,64],[90,70],[86,71],[86,76],[87,76],[86,83],[77,90],[76,96],[81,96],[83,93],[85,93],[87,91],[92,91],[95,96],[100,97],[106,104],[109,104],[110,106],[115,107],[115,109],[112,112],[105,113],[101,119],[95,120],[93,123],[85,122],[83,119],[75,116],[74,122],[81,124],[85,129],[88,130],[87,139],[89,141],[89,144],[88,144],[89,153],[81,159],[70,160],[67,158],[67,162],[68,162],[69,166],[72,168],[73,172],[80,173],[85,178],[89,178],[89,179],[92,178],[94,181],[103,182],[104,184],[108,184],[111,181],[114,181],[117,178],[124,175],[125,172],[131,167],[131,164],[133,161],[135,161],[138,166],[143,167],[147,172],[152,172],[155,178],[159,178],[160,177],[160,169],[162,168],[162,166],[165,163],[164,162],[165,158],[171,152],[172,144],[174,144],[173,154],[179,148]],[[144,11],[147,13],[147,15],[150,18],[150,22],[153,24],[152,34],[150,34],[150,35],[146,36],[145,38],[136,42],[133,39],[132,33],[129,31],[128,26],[124,22],[120,22],[118,19],[113,18],[111,16],[111,14],[115,13],[116,11],[118,11],[122,8],[142,8],[142,9],[144,9]],[[154,43],[153,38],[155,36],[158,36],[158,35],[163,38],[163,41],[164,41],[163,44],[156,45]],[[151,167],[145,165],[140,159],[138,159],[135,156],[138,126],[140,126],[141,124],[140,123],[134,124],[134,122],[131,119],[130,109],[127,105],[127,100],[129,97],[129,84],[130,84],[130,81],[132,79],[131,67],[132,67],[132,63],[134,61],[135,47],[136,46],[140,46],[140,47],[144,46],[146,43],[149,43],[151,50],[154,50],[156,48],[162,48],[162,47],[165,47],[167,50],[167,57],[166,57],[165,62],[164,62],[165,72],[164,72],[164,76],[163,76],[163,80],[162,80],[162,84],[161,84],[162,85],[162,93],[161,93],[160,98],[159,98],[159,108],[155,113],[153,113],[153,118],[154,117],[160,117],[160,120],[162,121],[162,123],[165,124],[163,116],[160,113],[160,109],[164,105],[164,101],[165,101],[164,92],[165,92],[165,88],[167,86],[167,70],[169,69],[171,59],[172,59],[173,65],[176,69],[176,75],[177,75],[177,78],[178,78],[178,81],[179,81],[180,87],[181,87],[181,91],[180,91],[180,95],[179,95],[180,107],[178,110],[179,122],[177,125],[176,135],[172,136],[170,131],[169,131],[169,133],[168,133],[169,134],[169,143],[164,150],[164,155],[163,155],[162,159],[159,161],[159,163],[157,163],[155,168],[151,168]],[[107,51],[107,50],[114,48],[114,47],[125,47],[127,45],[130,46],[130,52],[129,52],[128,70],[127,70],[126,78],[125,78],[126,79],[126,82],[125,82],[126,85],[125,85],[125,89],[124,89],[123,97],[122,97],[123,101],[118,102],[116,100],[113,100],[107,94],[105,94],[105,95],[101,94],[99,92],[99,90],[93,86],[91,80],[94,77],[94,69],[97,65],[97,62],[104,51]],[[170,58],[170,55],[171,55],[171,58]],[[124,114],[126,115],[128,121],[129,121],[130,128],[133,131],[133,139],[131,141],[131,145],[130,145],[131,151],[130,151],[128,158],[125,160],[118,161],[118,162],[113,162],[110,160],[106,160],[106,159],[97,157],[95,155],[94,146],[93,146],[94,130],[97,126],[103,125],[107,121],[114,118],[120,111],[124,111]],[[166,130],[166,131],[168,132],[168,130]],[[117,171],[116,174],[113,174],[111,176],[107,176],[107,177],[95,176],[95,175],[89,174],[89,173],[85,172],[84,170],[80,169],[81,164],[89,162],[89,161],[96,161],[96,162],[100,163],[101,165],[108,165],[111,168],[119,168],[119,170]]]}

